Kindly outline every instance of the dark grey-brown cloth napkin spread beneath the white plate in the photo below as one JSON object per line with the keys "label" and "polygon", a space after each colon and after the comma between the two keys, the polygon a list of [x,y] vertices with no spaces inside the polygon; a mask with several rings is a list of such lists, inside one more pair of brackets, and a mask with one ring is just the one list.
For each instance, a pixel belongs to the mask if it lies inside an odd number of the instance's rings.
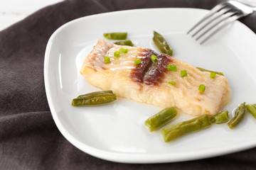
{"label": "dark grey-brown cloth napkin spread beneath the white plate", "polygon": [[[55,126],[43,81],[50,35],[64,23],[132,8],[210,9],[217,0],[73,0],[33,13],[0,32],[0,169],[255,169],[256,148],[222,157],[169,164],[120,164],[90,156]],[[35,2],[36,3],[36,2]],[[240,21],[256,33],[253,13]],[[193,145],[191,145],[193,147]]]}

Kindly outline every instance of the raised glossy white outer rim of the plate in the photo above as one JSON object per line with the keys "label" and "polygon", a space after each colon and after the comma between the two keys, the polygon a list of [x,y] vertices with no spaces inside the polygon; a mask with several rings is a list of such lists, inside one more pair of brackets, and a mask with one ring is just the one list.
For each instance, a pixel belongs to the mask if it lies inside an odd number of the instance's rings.
{"label": "raised glossy white outer rim of the plate", "polygon": [[[250,149],[252,147],[256,147],[256,142],[245,142],[246,145],[238,145],[234,149],[234,145],[232,147],[228,147],[228,149],[225,149],[223,152],[222,149],[215,149],[214,152],[212,149],[203,149],[203,151],[190,151],[186,154],[186,157],[181,157],[181,154],[183,153],[176,153],[176,154],[148,154],[148,153],[129,153],[129,152],[107,152],[102,149],[97,149],[95,147],[91,147],[88,145],[83,144],[79,140],[77,140],[75,137],[69,134],[65,128],[63,127],[60,119],[58,118],[58,115],[55,111],[54,102],[52,99],[52,94],[50,93],[50,79],[48,77],[49,75],[49,68],[48,68],[48,62],[49,62],[49,53],[50,53],[50,47],[53,45],[53,40],[58,33],[60,33],[63,28],[72,25],[73,23],[82,21],[84,18],[93,18],[93,17],[100,17],[100,16],[106,16],[106,15],[113,15],[115,13],[127,13],[129,11],[159,11],[159,10],[191,10],[191,11],[209,11],[207,9],[202,8],[139,8],[139,9],[129,9],[129,10],[123,10],[123,11],[111,11],[107,13],[97,13],[90,16],[83,16],[80,18],[76,18],[73,21],[69,21],[68,23],[63,24],[63,26],[60,26],[55,32],[50,36],[48,43],[46,45],[46,52],[45,52],[45,59],[44,59],[44,82],[45,82],[45,89],[46,89],[46,96],[48,100],[48,105],[50,108],[50,113],[53,116],[53,120],[55,122],[55,125],[57,126],[60,133],[65,137],[68,142],[70,142],[73,146],[80,149],[82,152],[85,152],[87,154],[92,155],[93,157],[98,157],[100,159],[105,159],[111,162],[121,162],[121,163],[132,163],[132,164],[151,164],[151,163],[166,163],[166,162],[183,162],[183,161],[190,161],[190,160],[196,160],[196,159],[205,159],[209,157],[216,157],[223,154],[230,154],[234,152],[240,152],[245,149]],[[240,21],[235,21],[243,26],[245,26],[244,23],[241,23]],[[250,30],[247,26],[245,26],[247,30]],[[250,32],[254,33],[252,30]],[[255,34],[255,33],[254,33]],[[207,151],[210,150],[210,153]],[[201,153],[203,152],[203,153]],[[178,155],[178,156],[177,156]],[[196,155],[196,156],[195,156]],[[159,156],[159,157],[157,157]],[[143,158],[142,158],[143,157]]]}

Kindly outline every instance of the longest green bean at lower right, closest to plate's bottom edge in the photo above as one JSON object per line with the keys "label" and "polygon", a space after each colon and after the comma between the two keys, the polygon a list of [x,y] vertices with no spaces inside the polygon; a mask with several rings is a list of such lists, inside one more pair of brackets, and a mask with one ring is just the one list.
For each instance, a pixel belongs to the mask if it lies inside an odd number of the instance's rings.
{"label": "longest green bean at lower right, closest to plate's bottom edge", "polygon": [[170,140],[174,140],[188,133],[208,128],[210,125],[209,115],[201,115],[197,118],[171,125],[164,128],[161,132],[164,137],[164,142],[169,142]]}

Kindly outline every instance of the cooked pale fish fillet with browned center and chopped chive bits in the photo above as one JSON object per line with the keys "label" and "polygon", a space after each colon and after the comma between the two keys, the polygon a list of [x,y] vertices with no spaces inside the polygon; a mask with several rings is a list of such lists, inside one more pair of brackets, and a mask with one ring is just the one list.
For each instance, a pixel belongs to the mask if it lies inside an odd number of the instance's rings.
{"label": "cooked pale fish fillet with browned center and chopped chive bits", "polygon": [[[114,57],[120,47],[129,51]],[[158,61],[153,62],[151,55],[156,55]],[[110,63],[105,63],[105,57],[110,57]],[[141,64],[134,64],[137,58]],[[178,71],[166,69],[169,64],[175,64]],[[187,77],[181,77],[183,69]],[[112,90],[117,96],[162,108],[176,107],[188,115],[215,115],[230,101],[226,77],[217,74],[211,79],[210,72],[201,72],[169,55],[143,47],[114,45],[106,40],[97,42],[80,73],[93,86]],[[169,81],[175,81],[176,85]],[[206,91],[198,91],[200,84],[206,85]]]}

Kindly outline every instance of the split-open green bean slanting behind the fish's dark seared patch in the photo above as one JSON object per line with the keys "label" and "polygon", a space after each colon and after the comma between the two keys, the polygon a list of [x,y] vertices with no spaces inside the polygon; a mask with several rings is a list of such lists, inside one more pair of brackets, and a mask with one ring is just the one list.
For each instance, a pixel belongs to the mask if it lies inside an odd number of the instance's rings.
{"label": "split-open green bean slanting behind the fish's dark seared patch", "polygon": [[166,40],[164,40],[164,37],[159,34],[156,33],[156,31],[154,31],[154,37],[153,37],[153,41],[154,44],[156,45],[156,47],[159,48],[159,50],[166,54],[166,55],[173,55],[173,50],[171,49],[171,47],[168,45],[168,43],[166,42]]}

